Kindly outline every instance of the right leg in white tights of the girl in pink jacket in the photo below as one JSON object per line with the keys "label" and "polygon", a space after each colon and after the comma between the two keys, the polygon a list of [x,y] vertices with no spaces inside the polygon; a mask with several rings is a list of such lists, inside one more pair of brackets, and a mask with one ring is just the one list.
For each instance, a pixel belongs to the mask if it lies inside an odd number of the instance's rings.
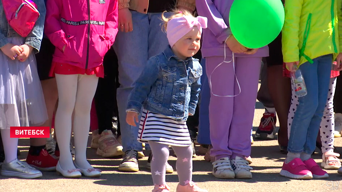
{"label": "right leg in white tights of the girl in pink jacket", "polygon": [[83,75],[77,83],[74,115],[75,163],[82,169],[91,169],[86,160],[86,145],[89,136],[90,110],[99,77]]}

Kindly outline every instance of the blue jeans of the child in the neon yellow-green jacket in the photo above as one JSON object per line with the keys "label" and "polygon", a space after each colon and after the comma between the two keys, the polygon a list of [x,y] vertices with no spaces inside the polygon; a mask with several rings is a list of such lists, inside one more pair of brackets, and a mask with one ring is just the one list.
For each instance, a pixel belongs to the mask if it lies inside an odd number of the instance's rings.
{"label": "blue jeans of the child in the neon yellow-green jacket", "polygon": [[[328,97],[332,55],[313,59],[299,66],[305,80],[307,95],[299,97],[299,105],[291,125],[287,151],[312,154]],[[292,110],[292,109],[290,109]]]}

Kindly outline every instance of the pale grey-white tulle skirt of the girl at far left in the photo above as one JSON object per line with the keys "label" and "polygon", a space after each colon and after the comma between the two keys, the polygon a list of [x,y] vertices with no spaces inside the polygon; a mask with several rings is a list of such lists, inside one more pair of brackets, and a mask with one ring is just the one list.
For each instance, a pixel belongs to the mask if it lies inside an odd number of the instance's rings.
{"label": "pale grey-white tulle skirt of the girl at far left", "polygon": [[[15,45],[25,41],[25,38],[7,39]],[[0,51],[0,129],[40,126],[47,119],[34,54],[20,62]]]}

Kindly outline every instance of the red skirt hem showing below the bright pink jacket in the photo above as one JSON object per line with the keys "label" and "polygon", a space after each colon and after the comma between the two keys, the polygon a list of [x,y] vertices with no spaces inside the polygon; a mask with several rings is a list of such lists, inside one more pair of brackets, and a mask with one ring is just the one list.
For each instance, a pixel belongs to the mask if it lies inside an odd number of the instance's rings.
{"label": "red skirt hem showing below the bright pink jacket", "polygon": [[66,64],[66,63],[58,63],[58,62],[52,62],[51,69],[49,76],[55,77],[55,74],[60,75],[96,75],[96,77],[104,77],[104,67],[103,64],[100,66],[91,68],[91,69],[83,69],[80,67],[76,67],[74,65]]}

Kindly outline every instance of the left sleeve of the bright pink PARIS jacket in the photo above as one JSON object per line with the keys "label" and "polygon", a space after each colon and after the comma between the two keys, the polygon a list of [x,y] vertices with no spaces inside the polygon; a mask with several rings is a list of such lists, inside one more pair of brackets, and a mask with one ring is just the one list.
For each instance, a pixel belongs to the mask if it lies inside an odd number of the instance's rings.
{"label": "left sleeve of the bright pink PARIS jacket", "polygon": [[60,24],[62,0],[48,0],[46,2],[46,19],[44,32],[51,43],[61,51],[67,44],[65,33]]}

